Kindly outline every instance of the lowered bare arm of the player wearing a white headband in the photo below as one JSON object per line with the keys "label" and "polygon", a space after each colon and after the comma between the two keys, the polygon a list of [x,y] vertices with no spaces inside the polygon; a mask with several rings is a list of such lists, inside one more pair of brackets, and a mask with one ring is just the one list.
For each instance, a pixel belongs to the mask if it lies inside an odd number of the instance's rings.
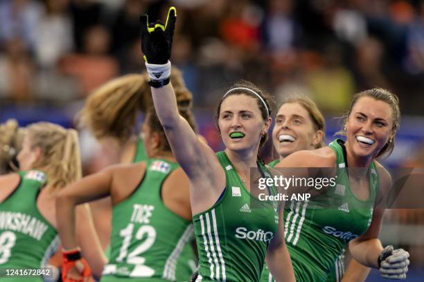
{"label": "lowered bare arm of the player wearing a white headband", "polygon": [[292,260],[285,245],[283,208],[279,212],[279,227],[267,248],[265,262],[275,281],[295,281]]}

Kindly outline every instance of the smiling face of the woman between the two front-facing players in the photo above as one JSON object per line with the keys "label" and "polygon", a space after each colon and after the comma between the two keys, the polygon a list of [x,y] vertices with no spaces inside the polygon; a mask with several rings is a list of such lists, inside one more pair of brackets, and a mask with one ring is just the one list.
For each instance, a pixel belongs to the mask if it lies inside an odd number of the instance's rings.
{"label": "smiling face of the woman between the two front-facing players", "polygon": [[277,112],[272,142],[279,156],[299,150],[315,149],[321,142],[322,131],[316,131],[308,111],[301,104],[285,103]]}

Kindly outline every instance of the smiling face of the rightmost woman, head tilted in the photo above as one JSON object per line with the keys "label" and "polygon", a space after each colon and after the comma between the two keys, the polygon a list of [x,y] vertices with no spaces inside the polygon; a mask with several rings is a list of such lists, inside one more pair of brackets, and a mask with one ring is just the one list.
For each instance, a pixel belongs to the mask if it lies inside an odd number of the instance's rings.
{"label": "smiling face of the rightmost woman, head tilted", "polygon": [[372,97],[361,97],[346,122],[346,149],[354,158],[375,158],[394,136],[391,106]]}

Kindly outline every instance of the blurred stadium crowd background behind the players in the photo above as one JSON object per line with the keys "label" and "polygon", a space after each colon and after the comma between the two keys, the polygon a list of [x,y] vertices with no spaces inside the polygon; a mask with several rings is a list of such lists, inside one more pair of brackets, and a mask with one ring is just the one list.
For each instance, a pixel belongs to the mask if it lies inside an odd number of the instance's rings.
{"label": "blurred stadium crowd background behind the players", "polygon": [[[236,79],[277,100],[309,95],[325,113],[328,140],[352,95],[378,86],[399,96],[403,113],[395,151],[382,162],[424,167],[423,0],[0,0],[0,122],[74,126],[94,88],[144,70],[139,15],[165,19],[171,4],[171,62],[214,149],[222,146],[214,107]],[[84,132],[81,139],[87,173],[113,162],[107,147]],[[381,238],[411,253],[407,281],[424,281],[423,234],[424,210],[387,212]],[[367,281],[380,281],[377,272]]]}

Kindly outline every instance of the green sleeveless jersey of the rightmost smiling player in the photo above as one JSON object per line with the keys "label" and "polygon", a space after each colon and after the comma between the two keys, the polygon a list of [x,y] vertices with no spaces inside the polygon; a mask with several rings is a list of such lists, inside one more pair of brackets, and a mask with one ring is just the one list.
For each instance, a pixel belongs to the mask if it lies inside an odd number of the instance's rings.
{"label": "green sleeveless jersey of the rightmost smiling player", "polygon": [[[337,158],[336,185],[320,196],[286,203],[284,231],[296,281],[339,281],[344,273],[342,256],[348,241],[364,234],[371,224],[378,194],[376,165],[369,168],[369,198],[358,199],[349,187],[342,140],[328,145]],[[323,203],[332,203],[323,207]],[[335,205],[335,203],[338,203]],[[330,279],[335,280],[330,280]],[[265,269],[260,281],[274,281]]]}

